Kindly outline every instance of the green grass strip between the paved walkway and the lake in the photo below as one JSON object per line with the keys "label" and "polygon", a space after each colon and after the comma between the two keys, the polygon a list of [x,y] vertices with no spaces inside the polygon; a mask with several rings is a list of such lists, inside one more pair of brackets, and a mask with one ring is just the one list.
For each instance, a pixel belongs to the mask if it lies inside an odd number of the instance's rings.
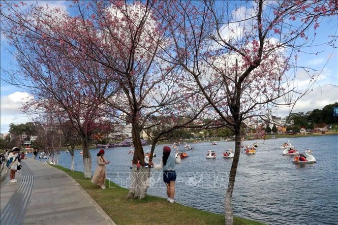
{"label": "green grass strip between the paved walkway and the lake", "polygon": [[[147,196],[144,200],[129,200],[126,198],[128,189],[116,186],[100,189],[83,178],[82,172],[71,172],[61,166],[54,166],[73,177],[116,224],[224,224],[222,214],[206,212],[183,206],[178,203],[168,203],[166,199]],[[114,186],[111,182],[110,186]],[[141,220],[140,220],[141,218]],[[261,222],[235,217],[234,224],[263,224]]]}

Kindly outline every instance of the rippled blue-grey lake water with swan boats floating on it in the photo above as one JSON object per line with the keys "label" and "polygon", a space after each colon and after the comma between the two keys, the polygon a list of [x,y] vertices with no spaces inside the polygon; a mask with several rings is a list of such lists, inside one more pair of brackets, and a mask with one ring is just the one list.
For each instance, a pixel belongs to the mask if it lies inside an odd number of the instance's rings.
{"label": "rippled blue-grey lake water with swan boats floating on it", "polygon": [[[259,220],[268,224],[337,224],[338,215],[338,136],[290,138],[296,149],[303,152],[312,149],[317,163],[294,165],[292,156],[283,156],[280,146],[288,139],[258,141],[255,155],[241,153],[233,194],[236,216]],[[252,141],[244,141],[244,145]],[[223,158],[223,151],[234,149],[235,143],[211,142],[191,144],[195,151],[188,151],[188,158],[176,165],[176,202],[195,208],[223,213],[225,188],[232,159]],[[159,145],[153,160],[159,163],[164,145]],[[179,146],[180,149],[183,146]],[[121,186],[130,184],[129,172],[133,155],[130,147],[105,149],[108,178]],[[144,146],[150,151],[150,146]],[[216,159],[206,159],[207,150],[216,151]],[[93,171],[96,154],[91,149]],[[75,153],[75,169],[82,171],[82,155]],[[173,152],[173,150],[172,150]],[[70,155],[61,153],[59,164],[70,168]],[[166,197],[162,173],[152,170],[152,186],[149,195]]]}

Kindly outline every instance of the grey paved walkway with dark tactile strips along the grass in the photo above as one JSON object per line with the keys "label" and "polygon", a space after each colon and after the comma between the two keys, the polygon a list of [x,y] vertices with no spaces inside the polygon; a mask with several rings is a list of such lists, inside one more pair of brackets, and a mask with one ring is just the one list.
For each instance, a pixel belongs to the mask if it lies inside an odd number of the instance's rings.
{"label": "grey paved walkway with dark tactile strips along the grass", "polygon": [[115,224],[64,171],[21,160],[17,183],[1,182],[1,224]]}

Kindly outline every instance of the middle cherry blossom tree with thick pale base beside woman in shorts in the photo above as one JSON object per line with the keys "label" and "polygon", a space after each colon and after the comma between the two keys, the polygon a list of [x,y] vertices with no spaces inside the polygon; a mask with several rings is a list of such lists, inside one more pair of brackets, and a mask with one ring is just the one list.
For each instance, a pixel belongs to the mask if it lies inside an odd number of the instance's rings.
{"label": "middle cherry blossom tree with thick pale base beside woman in shorts", "polygon": [[161,5],[155,1],[75,2],[73,8],[80,16],[68,20],[59,36],[63,45],[68,46],[69,54],[102,66],[104,75],[97,74],[91,85],[99,88],[97,80],[108,80],[107,91],[102,95],[107,106],[105,112],[132,124],[135,153],[129,198],[146,195],[140,133],[159,123],[150,117],[200,113],[205,105],[200,101],[195,112],[186,110],[191,101],[182,100],[193,97],[196,88],[178,87],[177,80],[182,79],[180,69],[161,57],[170,42],[163,35],[165,27],[156,10]]}

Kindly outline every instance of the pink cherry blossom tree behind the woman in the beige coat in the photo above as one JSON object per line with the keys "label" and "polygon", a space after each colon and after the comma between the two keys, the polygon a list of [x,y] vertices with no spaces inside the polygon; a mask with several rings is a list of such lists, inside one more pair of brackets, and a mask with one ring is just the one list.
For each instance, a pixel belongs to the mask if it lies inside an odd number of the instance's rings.
{"label": "pink cherry blossom tree behind the woman in the beige coat", "polygon": [[[10,13],[5,14],[3,8]],[[16,52],[20,70],[7,71],[6,81],[24,88],[34,95],[29,103],[36,107],[62,110],[81,137],[84,176],[91,177],[89,144],[91,135],[110,123],[103,115],[103,103],[107,83],[94,77],[102,74],[102,67],[89,60],[81,60],[63,45],[60,31],[71,18],[59,9],[32,5],[27,12],[6,2],[1,11],[5,27],[3,34]],[[94,76],[95,75],[95,76]]]}

